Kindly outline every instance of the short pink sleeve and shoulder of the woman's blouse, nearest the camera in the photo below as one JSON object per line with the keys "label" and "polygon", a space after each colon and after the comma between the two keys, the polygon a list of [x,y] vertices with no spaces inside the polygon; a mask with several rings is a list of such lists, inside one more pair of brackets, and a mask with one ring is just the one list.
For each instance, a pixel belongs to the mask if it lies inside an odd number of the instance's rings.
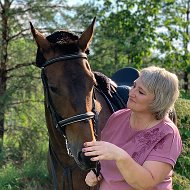
{"label": "short pink sleeve and shoulder of the woman's blouse, nearest the camera", "polygon": [[182,150],[177,126],[169,118],[164,118],[151,132],[150,138],[155,143],[152,143],[153,149],[146,160],[161,161],[174,166]]}

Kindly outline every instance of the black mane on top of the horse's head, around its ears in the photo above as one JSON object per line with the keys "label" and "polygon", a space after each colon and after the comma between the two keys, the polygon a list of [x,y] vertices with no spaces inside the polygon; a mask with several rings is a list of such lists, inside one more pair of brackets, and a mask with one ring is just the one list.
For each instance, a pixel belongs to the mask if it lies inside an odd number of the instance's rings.
{"label": "black mane on top of the horse's head, around its ears", "polygon": [[[79,35],[73,32],[65,30],[55,31],[47,36],[46,39],[52,44],[54,49],[59,49],[64,52],[64,54],[72,54],[79,51],[78,44],[76,43],[79,39]],[[85,53],[89,54],[89,50],[87,49]],[[36,65],[41,67],[45,61],[46,59],[38,48],[36,54]]]}

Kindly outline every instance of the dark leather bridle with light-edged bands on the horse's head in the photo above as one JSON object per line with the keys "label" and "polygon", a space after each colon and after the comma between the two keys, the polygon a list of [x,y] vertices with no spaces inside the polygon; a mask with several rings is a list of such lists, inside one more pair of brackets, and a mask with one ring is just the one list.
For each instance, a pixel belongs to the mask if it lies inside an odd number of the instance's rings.
{"label": "dark leather bridle with light-edged bands on the horse's head", "polygon": [[[96,106],[95,106],[95,93],[93,91],[92,111],[82,113],[82,114],[76,114],[76,115],[71,116],[69,118],[63,118],[56,112],[56,109],[55,109],[55,107],[53,105],[53,101],[51,99],[49,88],[48,88],[47,76],[45,75],[44,68],[51,65],[51,64],[57,63],[59,61],[79,59],[79,58],[87,60],[87,54],[80,52],[80,53],[68,54],[68,55],[55,57],[55,58],[47,60],[41,66],[41,78],[42,78],[42,82],[43,82],[43,86],[44,86],[44,92],[45,92],[45,95],[46,95],[47,108],[50,111],[54,126],[59,131],[59,133],[65,138],[65,144],[66,144],[67,153],[68,153],[69,156],[73,156],[73,155],[72,155],[72,152],[71,152],[71,149],[70,149],[70,146],[69,146],[69,142],[68,142],[68,139],[67,139],[67,136],[66,136],[66,133],[65,133],[66,126],[68,126],[68,125],[70,125],[72,123],[81,122],[81,121],[87,121],[87,120],[92,119],[94,135],[97,138],[97,134],[98,134],[98,112],[97,112]],[[53,149],[51,147],[51,142],[50,142],[50,152],[53,152],[52,155],[55,155],[55,152],[53,151]],[[54,157],[56,157],[56,159],[57,159],[56,155]],[[51,158],[51,162],[52,162],[52,158]],[[54,189],[57,190],[57,179],[56,179],[56,176],[55,176],[55,168],[53,166],[53,162],[51,164],[51,169],[54,170],[54,171],[52,171],[52,174],[54,173],[53,174]],[[68,170],[68,167],[67,167],[67,170]],[[99,163],[97,164],[96,169],[94,169],[93,171],[96,173],[97,176],[99,175],[99,173],[100,173],[100,164]],[[71,173],[71,172],[72,171],[69,170],[69,173]],[[64,173],[65,173],[65,171],[64,171]],[[67,178],[68,178],[68,176],[67,176]],[[71,180],[68,180],[68,184],[69,184],[69,181],[71,181]],[[71,187],[72,186],[73,185],[71,184]]]}

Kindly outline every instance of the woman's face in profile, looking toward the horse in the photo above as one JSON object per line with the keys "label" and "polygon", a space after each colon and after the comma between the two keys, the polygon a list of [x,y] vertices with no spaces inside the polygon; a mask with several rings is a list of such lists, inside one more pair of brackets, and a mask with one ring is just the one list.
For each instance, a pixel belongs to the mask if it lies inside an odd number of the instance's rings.
{"label": "woman's face in profile, looking toward the horse", "polygon": [[149,105],[154,100],[154,94],[142,84],[141,77],[137,78],[129,92],[127,108],[137,112],[150,112]]}

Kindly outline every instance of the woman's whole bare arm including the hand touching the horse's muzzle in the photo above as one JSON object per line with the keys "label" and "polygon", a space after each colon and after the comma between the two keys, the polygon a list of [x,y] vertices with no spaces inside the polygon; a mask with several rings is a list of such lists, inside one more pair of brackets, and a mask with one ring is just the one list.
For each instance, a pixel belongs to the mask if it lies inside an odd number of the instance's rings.
{"label": "woman's whole bare arm including the hand touching the horse's muzzle", "polygon": [[148,190],[159,184],[172,169],[170,164],[146,161],[143,166],[135,162],[123,149],[114,144],[96,141],[85,143],[86,156],[94,156],[93,161],[115,160],[126,182],[136,190]]}

